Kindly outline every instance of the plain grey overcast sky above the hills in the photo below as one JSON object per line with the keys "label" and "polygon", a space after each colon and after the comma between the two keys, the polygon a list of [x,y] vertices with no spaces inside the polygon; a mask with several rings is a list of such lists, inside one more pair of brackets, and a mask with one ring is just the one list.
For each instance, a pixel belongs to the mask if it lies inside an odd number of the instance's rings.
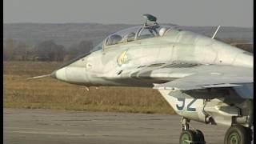
{"label": "plain grey overcast sky above the hills", "polygon": [[180,26],[253,26],[254,0],[4,0],[3,21],[140,24],[142,14]]}

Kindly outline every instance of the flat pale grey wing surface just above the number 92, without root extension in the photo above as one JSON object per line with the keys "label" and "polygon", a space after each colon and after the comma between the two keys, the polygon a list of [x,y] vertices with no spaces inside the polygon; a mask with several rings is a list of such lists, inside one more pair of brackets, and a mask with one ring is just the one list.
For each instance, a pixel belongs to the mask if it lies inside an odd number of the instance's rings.
{"label": "flat pale grey wing surface just above the number 92, without root extension", "polygon": [[[214,70],[216,71],[216,70]],[[242,86],[244,83],[252,83],[252,75],[232,74],[223,73],[219,70],[218,73],[198,73],[186,76],[184,78],[178,78],[174,81],[166,82],[154,88],[163,89],[178,89],[178,90],[195,90],[195,89],[205,89],[214,87],[234,87]]]}

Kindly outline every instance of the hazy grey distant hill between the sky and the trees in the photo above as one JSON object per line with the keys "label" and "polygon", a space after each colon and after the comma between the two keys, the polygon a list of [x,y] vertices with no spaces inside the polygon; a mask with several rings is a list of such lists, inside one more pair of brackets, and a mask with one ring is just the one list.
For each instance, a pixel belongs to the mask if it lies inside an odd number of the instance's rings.
{"label": "hazy grey distant hill between the sky and the trees", "polygon": [[[168,25],[168,24],[162,24]],[[46,40],[69,47],[82,40],[91,40],[94,45],[107,35],[134,25],[98,24],[98,23],[8,23],[3,25],[3,38],[36,44]],[[183,30],[191,30],[206,36],[212,36],[216,26],[179,26]],[[253,42],[253,28],[221,27],[216,38],[234,38]]]}

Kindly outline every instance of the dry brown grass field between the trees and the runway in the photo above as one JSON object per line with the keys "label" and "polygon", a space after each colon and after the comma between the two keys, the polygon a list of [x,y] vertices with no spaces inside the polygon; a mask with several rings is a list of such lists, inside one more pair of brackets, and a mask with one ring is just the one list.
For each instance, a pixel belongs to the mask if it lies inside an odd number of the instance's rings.
{"label": "dry brown grass field between the trees and the runway", "polygon": [[26,79],[50,74],[61,64],[3,62],[4,107],[174,114],[158,90],[150,88],[101,86],[86,91],[53,78]]}

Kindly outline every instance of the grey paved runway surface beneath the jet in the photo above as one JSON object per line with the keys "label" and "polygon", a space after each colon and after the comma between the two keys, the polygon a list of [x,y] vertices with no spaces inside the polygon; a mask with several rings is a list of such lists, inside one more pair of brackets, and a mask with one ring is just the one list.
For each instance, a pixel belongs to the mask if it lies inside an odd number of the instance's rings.
{"label": "grey paved runway surface beneath the jet", "polygon": [[[178,115],[4,109],[5,144],[177,144]],[[206,143],[223,143],[227,126],[190,122]]]}

